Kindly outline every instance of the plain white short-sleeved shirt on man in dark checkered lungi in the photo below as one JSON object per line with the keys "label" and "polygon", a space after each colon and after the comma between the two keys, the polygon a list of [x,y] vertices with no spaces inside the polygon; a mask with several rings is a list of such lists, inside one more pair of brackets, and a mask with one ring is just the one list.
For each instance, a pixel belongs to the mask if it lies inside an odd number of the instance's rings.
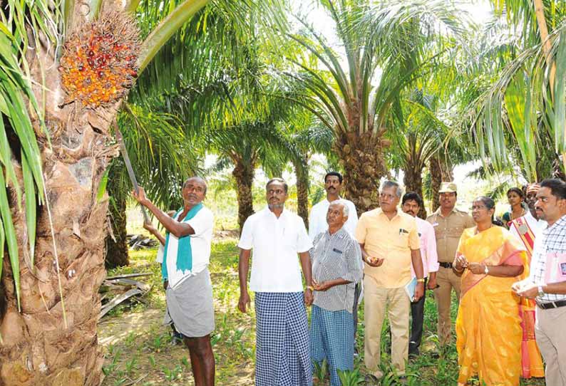
{"label": "plain white short-sleeved shirt on man in dark checkered lungi", "polygon": [[312,242],[303,219],[287,209],[279,219],[266,207],[244,223],[238,246],[253,249],[254,292],[302,292],[303,282],[298,253],[307,252]]}

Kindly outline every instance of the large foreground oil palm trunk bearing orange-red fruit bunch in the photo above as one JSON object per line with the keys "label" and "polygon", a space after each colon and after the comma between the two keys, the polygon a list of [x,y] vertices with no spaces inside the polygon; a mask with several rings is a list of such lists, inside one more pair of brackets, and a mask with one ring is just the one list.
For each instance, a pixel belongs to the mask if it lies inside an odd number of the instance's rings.
{"label": "large foreground oil palm trunk bearing orange-red fruit bunch", "polygon": [[138,4],[39,0],[0,10],[0,385],[101,382],[108,198],[98,191],[117,155],[111,126],[138,74],[207,0],[142,4],[152,11],[141,34]]}

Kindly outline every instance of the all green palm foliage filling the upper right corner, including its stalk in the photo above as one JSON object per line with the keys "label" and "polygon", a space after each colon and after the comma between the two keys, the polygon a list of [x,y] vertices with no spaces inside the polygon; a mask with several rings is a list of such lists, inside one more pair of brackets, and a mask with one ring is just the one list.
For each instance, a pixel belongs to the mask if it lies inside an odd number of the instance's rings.
{"label": "all green palm foliage filling the upper right corner, including its stalk", "polygon": [[[540,165],[566,160],[566,12],[554,0],[493,1],[493,6],[505,9],[518,38],[479,68],[493,82],[470,103],[473,136],[495,171],[510,169],[518,149],[528,179],[549,177],[541,175]],[[500,58],[505,65],[493,68]]]}

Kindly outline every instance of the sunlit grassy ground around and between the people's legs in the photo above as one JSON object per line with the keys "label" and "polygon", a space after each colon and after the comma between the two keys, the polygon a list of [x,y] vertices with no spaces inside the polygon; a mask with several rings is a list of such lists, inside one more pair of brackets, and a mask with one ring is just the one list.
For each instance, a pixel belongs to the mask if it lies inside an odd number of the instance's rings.
{"label": "sunlit grassy ground around and between the people's legs", "polygon": [[[155,249],[130,251],[130,266],[110,271],[118,273],[150,272],[151,276],[140,278],[152,288],[142,303],[133,306],[118,306],[102,320],[99,339],[112,343],[104,345],[103,385],[193,385],[190,373],[188,351],[182,345],[171,345],[170,330],[161,324],[165,308],[165,296],[161,286],[159,265],[155,264]],[[240,289],[237,275],[238,251],[234,239],[212,244],[210,273],[215,298],[216,328],[212,345],[216,358],[216,384],[220,386],[254,384],[254,309],[248,314],[237,311]],[[253,304],[253,302],[252,302]],[[438,348],[436,336],[436,304],[432,292],[427,291],[421,355],[409,362],[407,380],[404,385],[453,386],[458,378],[458,355],[456,345],[448,349]],[[453,302],[452,317],[456,318],[456,302]],[[153,315],[149,317],[148,315]],[[128,318],[139,317],[137,322],[128,324]],[[129,322],[128,322],[129,323]],[[138,323],[138,324],[136,324]],[[358,385],[376,385],[367,381],[364,367],[364,307],[359,311],[356,345],[359,356],[355,359],[359,375],[346,374],[349,385],[356,385],[355,379],[364,380]],[[384,323],[381,339],[381,370],[386,376],[378,385],[398,385],[398,379],[387,366],[391,362],[389,350],[389,323]],[[117,338],[119,337],[119,338]],[[434,358],[433,353],[441,353]],[[495,358],[494,358],[495,360]],[[315,372],[316,373],[316,372]],[[319,376],[324,372],[319,370]],[[315,385],[329,385],[328,376]],[[480,385],[477,380],[470,385]],[[522,381],[521,385],[545,385],[543,380]]]}

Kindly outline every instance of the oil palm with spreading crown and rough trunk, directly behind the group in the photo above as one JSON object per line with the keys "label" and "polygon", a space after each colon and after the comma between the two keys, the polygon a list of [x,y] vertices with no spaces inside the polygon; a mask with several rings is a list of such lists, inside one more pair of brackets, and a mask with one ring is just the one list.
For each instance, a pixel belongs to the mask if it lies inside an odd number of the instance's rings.
{"label": "oil palm with spreading crown and rough trunk, directly behind the group", "polygon": [[[294,60],[311,95],[297,95],[335,136],[346,177],[346,197],[359,212],[377,205],[379,179],[386,174],[387,130],[400,108],[400,93],[433,71],[435,46],[442,29],[461,31],[455,9],[446,1],[318,1],[335,24],[344,60],[312,26],[291,36],[317,59],[319,66]],[[436,45],[438,52],[444,48]],[[324,71],[319,68],[324,67]],[[329,119],[326,119],[329,117]]]}

